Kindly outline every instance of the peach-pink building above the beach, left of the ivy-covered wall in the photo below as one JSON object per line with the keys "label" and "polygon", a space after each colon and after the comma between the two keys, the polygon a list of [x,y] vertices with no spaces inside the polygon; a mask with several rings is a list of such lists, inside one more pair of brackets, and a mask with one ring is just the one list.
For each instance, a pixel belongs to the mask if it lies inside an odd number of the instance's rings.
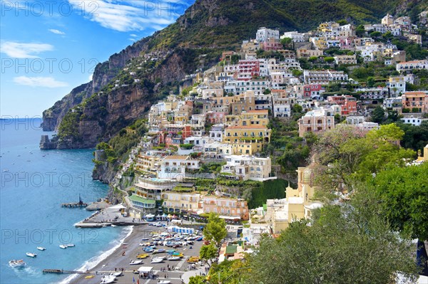
{"label": "peach-pink building above the beach, left of the ivy-covered wall", "polygon": [[247,201],[244,199],[233,199],[219,196],[203,196],[203,213],[210,214],[214,212],[220,215],[220,218],[230,221],[248,221],[250,214]]}

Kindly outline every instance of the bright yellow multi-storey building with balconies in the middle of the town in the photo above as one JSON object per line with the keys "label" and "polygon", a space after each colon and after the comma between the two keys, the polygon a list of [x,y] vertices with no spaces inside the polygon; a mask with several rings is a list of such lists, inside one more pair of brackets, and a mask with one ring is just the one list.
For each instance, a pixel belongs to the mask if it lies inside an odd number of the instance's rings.
{"label": "bright yellow multi-storey building with balconies in the middle of the town", "polygon": [[233,154],[253,154],[270,142],[271,132],[265,125],[230,126],[225,129],[223,142],[232,144]]}

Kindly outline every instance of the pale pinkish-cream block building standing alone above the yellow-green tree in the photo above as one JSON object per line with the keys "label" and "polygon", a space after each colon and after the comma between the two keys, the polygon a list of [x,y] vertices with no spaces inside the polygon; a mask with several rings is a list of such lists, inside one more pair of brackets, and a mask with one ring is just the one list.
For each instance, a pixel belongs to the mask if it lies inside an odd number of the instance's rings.
{"label": "pale pinkish-cream block building standing alone above the yellow-green tree", "polygon": [[307,112],[300,120],[299,136],[305,137],[305,133],[315,134],[335,128],[335,112],[332,108],[318,108]]}

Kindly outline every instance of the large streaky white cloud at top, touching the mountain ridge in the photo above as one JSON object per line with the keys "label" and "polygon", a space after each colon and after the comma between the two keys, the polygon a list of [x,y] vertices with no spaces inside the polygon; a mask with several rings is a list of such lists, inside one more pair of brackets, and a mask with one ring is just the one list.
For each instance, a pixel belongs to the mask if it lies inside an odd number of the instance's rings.
{"label": "large streaky white cloud at top, touching the mountain ridge", "polygon": [[[79,1],[68,2],[73,8],[79,11],[82,9]],[[142,31],[146,28],[163,28],[173,23],[179,15],[170,5],[170,2],[161,1],[95,0],[91,1],[91,6],[84,7],[83,15],[115,31]]]}

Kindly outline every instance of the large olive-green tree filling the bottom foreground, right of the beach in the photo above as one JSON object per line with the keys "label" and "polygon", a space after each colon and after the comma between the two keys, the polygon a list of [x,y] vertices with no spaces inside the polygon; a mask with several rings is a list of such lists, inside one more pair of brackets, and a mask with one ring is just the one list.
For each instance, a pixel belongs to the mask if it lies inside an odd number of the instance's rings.
{"label": "large olive-green tree filling the bottom foreground, right of the beach", "polygon": [[416,276],[414,246],[390,231],[374,193],[355,194],[307,221],[290,223],[279,238],[265,236],[248,259],[245,283],[391,283]]}

